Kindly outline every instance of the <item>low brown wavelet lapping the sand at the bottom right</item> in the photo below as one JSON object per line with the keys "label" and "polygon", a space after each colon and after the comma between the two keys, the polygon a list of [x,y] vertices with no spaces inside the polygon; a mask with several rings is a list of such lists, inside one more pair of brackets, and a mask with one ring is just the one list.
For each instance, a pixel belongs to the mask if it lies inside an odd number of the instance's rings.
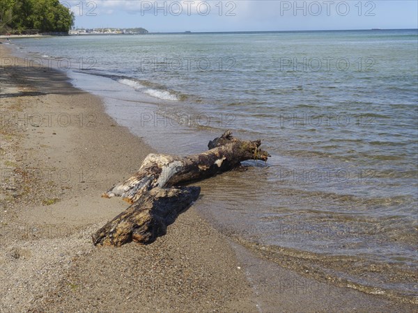
{"label": "low brown wavelet lapping the sand at the bottom right", "polygon": [[[365,294],[379,294],[392,300],[417,303],[415,285],[403,283],[414,281],[416,278],[415,271],[408,268],[369,261],[361,255],[320,255],[286,246],[251,242],[236,235],[229,236],[258,257],[296,271],[304,277],[314,278],[338,287],[357,289]],[[392,277],[391,281],[387,280],[388,276]]]}

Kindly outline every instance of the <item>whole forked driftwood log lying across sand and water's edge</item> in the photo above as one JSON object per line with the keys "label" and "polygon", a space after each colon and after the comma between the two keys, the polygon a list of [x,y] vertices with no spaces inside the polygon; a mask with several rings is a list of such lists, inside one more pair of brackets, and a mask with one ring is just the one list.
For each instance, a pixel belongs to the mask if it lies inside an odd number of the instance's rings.
{"label": "whole forked driftwood log lying across sand and water's edge", "polygon": [[199,197],[199,187],[178,186],[232,170],[245,160],[267,161],[270,155],[260,145],[259,140],[241,141],[226,131],[210,141],[209,150],[201,154],[187,157],[148,154],[134,176],[102,195],[121,197],[132,205],[93,234],[93,243],[104,246],[121,246],[130,241],[152,243]]}

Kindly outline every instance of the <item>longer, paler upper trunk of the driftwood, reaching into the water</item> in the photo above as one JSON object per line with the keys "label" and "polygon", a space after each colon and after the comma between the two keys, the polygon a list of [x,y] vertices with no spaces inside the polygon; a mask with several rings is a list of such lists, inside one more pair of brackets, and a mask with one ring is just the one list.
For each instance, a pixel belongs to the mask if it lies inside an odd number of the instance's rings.
{"label": "longer, paler upper trunk of the driftwood, reaching into the water", "polygon": [[146,191],[155,188],[179,186],[226,172],[240,162],[255,159],[267,161],[269,154],[259,147],[261,141],[240,141],[231,131],[210,141],[210,150],[201,154],[178,157],[169,154],[148,154],[138,172],[125,182],[109,189],[104,198],[121,197],[134,203]]}

